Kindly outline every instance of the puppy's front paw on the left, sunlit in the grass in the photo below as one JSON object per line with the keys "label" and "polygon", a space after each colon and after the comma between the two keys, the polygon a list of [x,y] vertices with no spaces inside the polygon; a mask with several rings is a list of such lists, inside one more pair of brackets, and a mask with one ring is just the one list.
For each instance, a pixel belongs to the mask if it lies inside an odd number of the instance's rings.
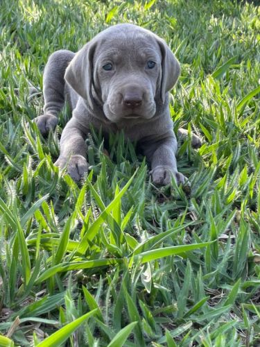
{"label": "puppy's front paw on the left, sunlit in the grass", "polygon": [[83,178],[87,172],[87,169],[89,168],[89,164],[86,160],[86,158],[83,157],[83,155],[71,155],[69,158],[62,158],[59,157],[58,160],[55,162],[56,167],[60,167],[60,169],[64,169],[64,167],[67,167],[67,172],[69,176],[73,180],[80,180],[80,178]]}

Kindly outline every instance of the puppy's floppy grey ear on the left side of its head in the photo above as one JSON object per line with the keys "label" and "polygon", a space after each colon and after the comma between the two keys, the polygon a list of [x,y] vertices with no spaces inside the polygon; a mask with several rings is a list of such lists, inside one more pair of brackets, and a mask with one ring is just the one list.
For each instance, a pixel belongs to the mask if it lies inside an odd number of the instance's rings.
{"label": "puppy's floppy grey ear on the left side of its head", "polygon": [[71,60],[65,71],[65,81],[75,90],[83,99],[87,100],[89,106],[93,109],[93,56],[96,44],[90,41],[85,44],[76,56]]}

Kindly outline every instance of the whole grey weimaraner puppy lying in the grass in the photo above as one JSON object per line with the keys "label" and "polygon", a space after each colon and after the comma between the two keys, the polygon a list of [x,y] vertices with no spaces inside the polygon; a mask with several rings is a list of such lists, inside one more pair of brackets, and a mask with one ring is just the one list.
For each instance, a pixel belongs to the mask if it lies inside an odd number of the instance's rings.
{"label": "whole grey weimaraner puppy lying in the grass", "polygon": [[72,118],[60,139],[60,157],[74,180],[88,169],[85,139],[89,126],[104,136],[123,129],[150,162],[153,183],[177,184],[177,141],[168,108],[168,91],[180,65],[164,40],[133,24],[117,24],[102,31],[78,53],[53,53],[44,69],[44,115],[35,119],[44,135],[58,123],[68,100]]}

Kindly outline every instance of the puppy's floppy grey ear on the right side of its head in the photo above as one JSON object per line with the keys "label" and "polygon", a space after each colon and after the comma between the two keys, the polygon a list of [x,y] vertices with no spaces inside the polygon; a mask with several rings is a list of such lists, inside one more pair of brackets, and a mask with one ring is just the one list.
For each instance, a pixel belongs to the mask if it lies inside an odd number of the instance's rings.
{"label": "puppy's floppy grey ear on the right side of its head", "polygon": [[164,40],[157,40],[162,53],[162,80],[160,96],[165,101],[166,92],[171,90],[180,75],[180,64]]}

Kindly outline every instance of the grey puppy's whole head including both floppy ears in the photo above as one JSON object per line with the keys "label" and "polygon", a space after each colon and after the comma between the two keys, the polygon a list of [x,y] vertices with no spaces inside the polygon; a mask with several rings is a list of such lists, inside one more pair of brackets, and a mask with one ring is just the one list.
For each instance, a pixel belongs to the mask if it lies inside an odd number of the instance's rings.
{"label": "grey puppy's whole head including both floppy ears", "polygon": [[150,119],[164,103],[180,65],[164,40],[144,28],[118,24],[96,35],[71,60],[65,79],[91,108],[112,122]]}

